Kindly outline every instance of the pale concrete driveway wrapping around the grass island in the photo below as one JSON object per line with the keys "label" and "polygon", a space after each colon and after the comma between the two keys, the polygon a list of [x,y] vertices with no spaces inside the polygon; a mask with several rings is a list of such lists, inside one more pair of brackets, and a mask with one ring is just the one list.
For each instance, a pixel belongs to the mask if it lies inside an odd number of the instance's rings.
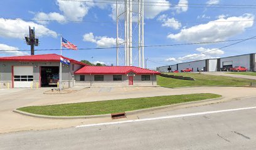
{"label": "pale concrete driveway wrapping around the grass island", "polygon": [[[16,108],[62,103],[79,103],[88,101],[104,101],[109,99],[141,98],[146,96],[167,96],[176,94],[215,93],[224,96],[225,100],[245,97],[256,97],[256,88],[228,87],[196,87],[196,88],[89,88],[70,94],[43,94],[47,88],[41,89],[3,89],[0,91],[0,133],[25,130],[41,130],[68,128],[82,124],[102,123],[112,121],[104,119],[40,119],[13,113]],[[100,92],[102,91],[102,92]],[[146,114],[144,114],[146,115]],[[126,119],[137,119],[137,115]]]}

